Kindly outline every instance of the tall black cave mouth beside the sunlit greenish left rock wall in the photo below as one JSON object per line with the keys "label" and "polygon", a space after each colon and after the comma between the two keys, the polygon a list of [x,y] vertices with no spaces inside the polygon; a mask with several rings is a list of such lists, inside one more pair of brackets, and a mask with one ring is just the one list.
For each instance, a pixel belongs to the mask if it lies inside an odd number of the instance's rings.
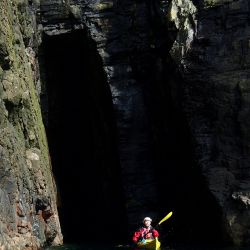
{"label": "tall black cave mouth beside the sunlit greenish left rock wall", "polygon": [[84,30],[44,34],[40,68],[64,242],[123,240],[127,222],[112,98],[95,44]]}

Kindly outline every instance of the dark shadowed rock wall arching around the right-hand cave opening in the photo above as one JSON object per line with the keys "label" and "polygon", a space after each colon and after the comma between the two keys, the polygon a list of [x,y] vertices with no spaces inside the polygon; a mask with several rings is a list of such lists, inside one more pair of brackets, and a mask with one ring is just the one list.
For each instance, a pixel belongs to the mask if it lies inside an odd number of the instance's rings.
{"label": "dark shadowed rock wall arching around the right-hand cave opening", "polygon": [[[74,29],[88,28],[102,56],[117,114],[129,223],[158,200],[152,134],[145,132],[152,125],[147,102],[156,99],[149,97],[150,86],[159,81],[163,65],[164,56],[157,53],[166,53],[166,59],[169,49],[183,82],[170,81],[168,87],[172,102],[182,103],[195,160],[222,211],[227,234],[235,244],[248,243],[248,1],[41,3],[48,35],[70,32],[74,20]],[[166,35],[164,25],[158,25],[167,22]],[[182,100],[176,99],[179,92]]]}

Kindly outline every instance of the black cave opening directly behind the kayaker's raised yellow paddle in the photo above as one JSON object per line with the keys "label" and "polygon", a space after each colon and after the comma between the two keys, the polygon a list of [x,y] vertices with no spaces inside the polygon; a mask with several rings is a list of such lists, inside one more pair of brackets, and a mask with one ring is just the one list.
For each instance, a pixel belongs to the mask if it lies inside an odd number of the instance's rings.
{"label": "black cave opening directly behind the kayaker's raised yellow paddle", "polygon": [[[174,212],[159,229],[161,239],[185,246],[228,245],[222,211],[197,164],[195,141],[182,110],[183,79],[166,55],[166,48],[148,58],[139,55],[134,65],[137,79],[144,84],[150,117],[159,214]],[[140,68],[140,61],[148,64]]]}

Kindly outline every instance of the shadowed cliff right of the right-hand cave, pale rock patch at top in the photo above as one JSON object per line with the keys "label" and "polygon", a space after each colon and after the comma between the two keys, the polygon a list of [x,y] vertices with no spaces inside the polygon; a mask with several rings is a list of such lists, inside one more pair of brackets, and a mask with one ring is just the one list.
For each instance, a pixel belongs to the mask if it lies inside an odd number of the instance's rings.
{"label": "shadowed cliff right of the right-hand cave, pale rock patch at top", "polygon": [[[172,1],[172,58],[196,159],[235,244],[249,243],[249,1]],[[172,24],[173,24],[172,23]]]}

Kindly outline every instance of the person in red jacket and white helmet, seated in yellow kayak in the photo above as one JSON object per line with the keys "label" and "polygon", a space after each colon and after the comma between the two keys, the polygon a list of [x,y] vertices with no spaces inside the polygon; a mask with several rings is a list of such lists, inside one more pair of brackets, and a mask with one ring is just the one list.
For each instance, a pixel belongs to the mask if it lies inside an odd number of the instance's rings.
{"label": "person in red jacket and white helmet, seated in yellow kayak", "polygon": [[145,241],[146,239],[155,239],[159,237],[159,233],[151,226],[152,219],[150,217],[145,217],[143,219],[143,227],[136,231],[133,235],[133,242],[137,243],[139,241]]}

